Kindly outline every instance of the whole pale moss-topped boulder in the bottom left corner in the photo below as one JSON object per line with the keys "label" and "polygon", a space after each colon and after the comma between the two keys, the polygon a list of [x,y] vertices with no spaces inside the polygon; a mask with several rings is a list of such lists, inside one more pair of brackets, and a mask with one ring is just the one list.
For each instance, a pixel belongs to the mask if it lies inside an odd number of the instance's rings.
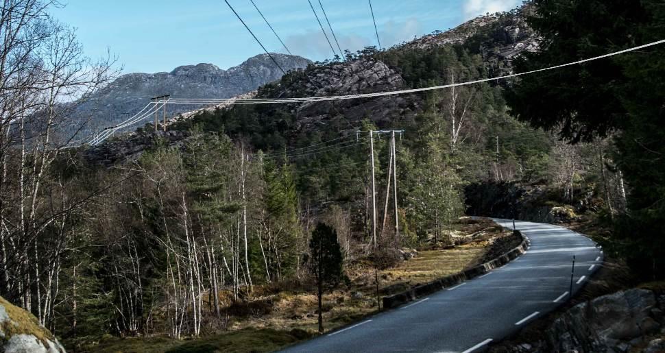
{"label": "whole pale moss-topped boulder in the bottom left corner", "polygon": [[6,353],[65,352],[34,315],[0,297],[0,351]]}

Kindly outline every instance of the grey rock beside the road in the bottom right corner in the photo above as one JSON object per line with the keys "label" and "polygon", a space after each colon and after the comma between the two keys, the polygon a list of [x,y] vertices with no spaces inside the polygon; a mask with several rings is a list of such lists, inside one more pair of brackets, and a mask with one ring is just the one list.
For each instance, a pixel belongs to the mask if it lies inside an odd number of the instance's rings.
{"label": "grey rock beside the road in the bottom right corner", "polygon": [[548,329],[548,341],[559,352],[626,352],[662,329],[658,306],[655,294],[645,289],[597,297],[561,315]]}

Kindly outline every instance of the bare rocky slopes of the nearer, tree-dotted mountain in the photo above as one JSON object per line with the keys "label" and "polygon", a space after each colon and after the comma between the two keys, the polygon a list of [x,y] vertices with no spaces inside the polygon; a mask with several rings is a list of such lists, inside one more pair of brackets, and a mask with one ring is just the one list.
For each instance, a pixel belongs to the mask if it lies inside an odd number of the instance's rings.
{"label": "bare rocky slopes of the nearer, tree-dotted mountain", "polygon": [[[259,88],[256,97],[352,95],[447,84],[450,77],[446,65],[457,65],[467,79],[505,75],[511,73],[512,60],[520,53],[538,48],[537,35],[525,19],[529,11],[529,6],[524,6],[511,12],[479,16],[447,32],[428,34],[387,51],[365,51],[347,61],[312,65],[306,71],[284,77],[280,84]],[[451,55],[459,58],[446,59]],[[477,100],[485,104],[486,99]],[[378,127],[413,125],[426,110],[426,104],[426,96],[411,94],[262,108],[208,107],[181,114],[178,123],[169,126],[169,130],[186,131],[194,121],[210,130],[223,126],[223,131],[231,136],[252,136],[256,148],[279,150],[306,145],[313,134],[332,137],[355,134],[365,118]],[[498,101],[487,105],[503,109]],[[481,108],[477,110],[476,116],[485,114]],[[487,122],[479,123],[479,130],[487,130],[486,125]],[[121,160],[127,150],[141,149],[134,145],[145,145],[146,136],[140,135],[136,136],[136,143],[130,138],[91,149],[91,159],[103,156],[104,160]]]}

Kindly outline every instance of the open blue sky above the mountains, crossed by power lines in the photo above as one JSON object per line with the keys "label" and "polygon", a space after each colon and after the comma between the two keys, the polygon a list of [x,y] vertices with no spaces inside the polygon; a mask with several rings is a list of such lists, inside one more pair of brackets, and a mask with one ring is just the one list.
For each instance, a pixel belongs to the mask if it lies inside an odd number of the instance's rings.
{"label": "open blue sky above the mountains, crossed by power lines", "polygon": [[[286,53],[250,0],[228,0],[271,52]],[[319,19],[330,30],[311,0]],[[376,45],[367,0],[321,0],[342,50]],[[378,34],[389,47],[437,29],[446,31],[487,12],[511,10],[521,0],[373,0]],[[224,0],[64,0],[53,17],[74,27],[90,58],[110,53],[123,73],[172,71],[206,62],[221,69],[263,53]],[[254,0],[291,53],[332,58],[307,0]],[[330,36],[330,40],[333,40]],[[335,43],[333,42],[333,45]],[[335,49],[337,46],[335,45]]]}

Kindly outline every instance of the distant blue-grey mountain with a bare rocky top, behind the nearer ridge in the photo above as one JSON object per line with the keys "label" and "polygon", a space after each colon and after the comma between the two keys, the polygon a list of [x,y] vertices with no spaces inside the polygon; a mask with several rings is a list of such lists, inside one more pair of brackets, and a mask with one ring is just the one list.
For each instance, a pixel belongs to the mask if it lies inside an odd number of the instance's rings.
{"label": "distant blue-grey mountain with a bare rocky top, behind the nearer ridge", "polygon": [[[310,60],[300,56],[271,54],[285,71],[304,69]],[[274,82],[283,73],[267,54],[247,59],[228,70],[213,64],[179,66],[170,73],[129,73],[81,103],[77,113],[91,117],[93,130],[107,127],[136,114],[160,95],[178,98],[230,98]],[[193,106],[169,106],[168,114],[193,110]],[[143,123],[137,124],[143,125]]]}

